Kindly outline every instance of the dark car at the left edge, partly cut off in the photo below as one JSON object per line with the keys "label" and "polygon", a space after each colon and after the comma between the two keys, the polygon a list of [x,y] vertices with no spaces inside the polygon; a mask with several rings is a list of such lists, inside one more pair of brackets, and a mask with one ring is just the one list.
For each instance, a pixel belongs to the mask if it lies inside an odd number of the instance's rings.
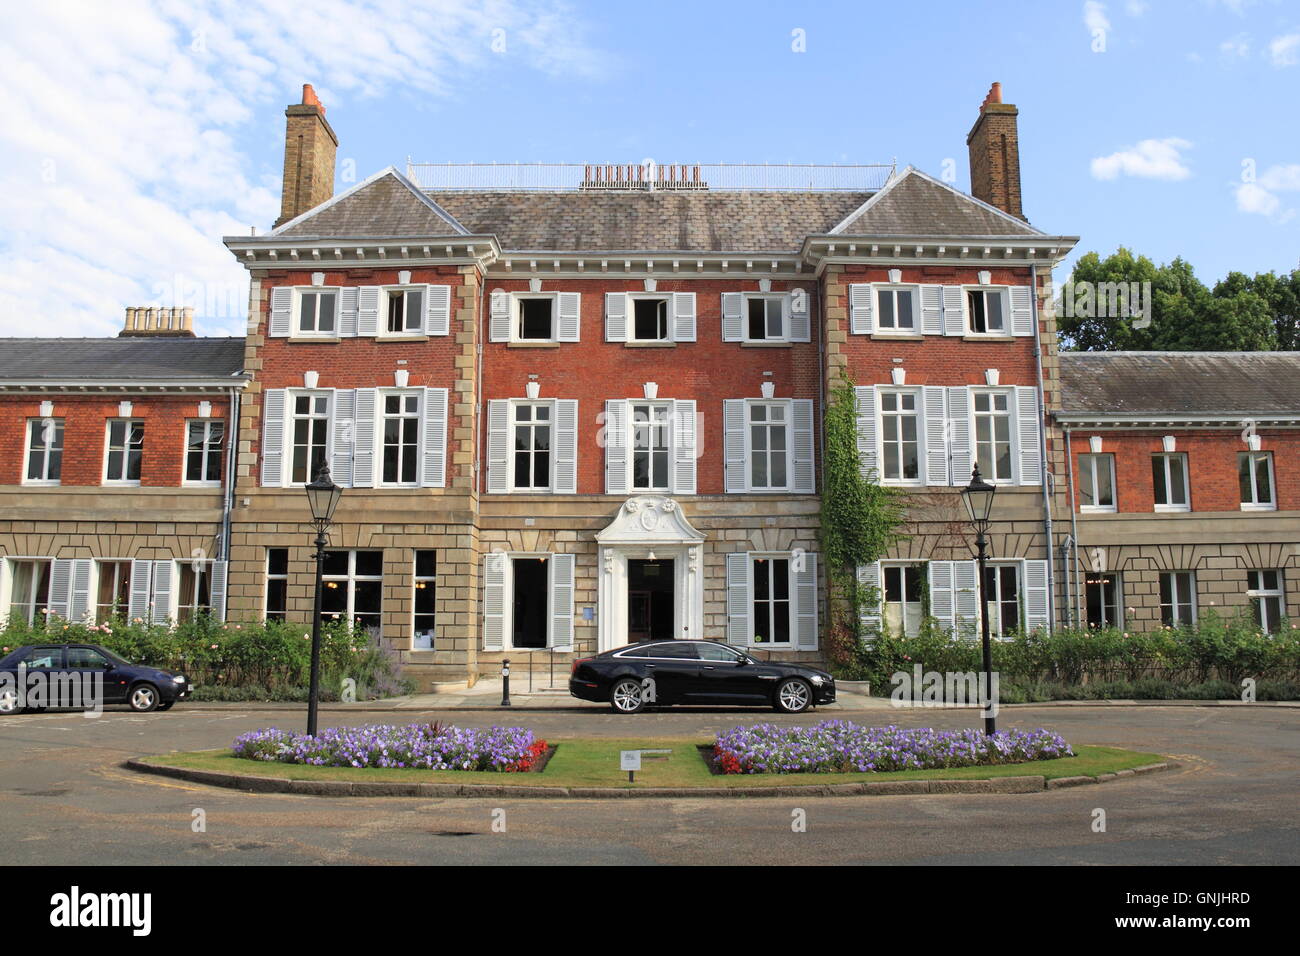
{"label": "dark car at the left edge, partly cut off", "polygon": [[191,693],[183,674],[130,663],[98,644],[32,644],[0,659],[0,714],[107,704],[144,714]]}

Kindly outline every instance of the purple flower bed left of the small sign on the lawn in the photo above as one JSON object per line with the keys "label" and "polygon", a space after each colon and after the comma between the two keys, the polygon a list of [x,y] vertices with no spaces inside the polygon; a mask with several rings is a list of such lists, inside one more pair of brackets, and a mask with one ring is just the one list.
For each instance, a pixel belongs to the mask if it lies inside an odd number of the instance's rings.
{"label": "purple flower bed left of the small sign on the lawn", "polygon": [[316,736],[274,727],[235,737],[235,757],[325,767],[419,770],[530,770],[546,741],[523,727],[474,730],[439,723],[330,727]]}

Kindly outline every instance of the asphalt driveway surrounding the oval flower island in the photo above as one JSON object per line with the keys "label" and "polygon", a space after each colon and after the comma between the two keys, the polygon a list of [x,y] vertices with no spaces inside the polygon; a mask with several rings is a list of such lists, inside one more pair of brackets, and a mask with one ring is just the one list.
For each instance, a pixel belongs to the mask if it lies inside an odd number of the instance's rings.
{"label": "asphalt driveway surrounding the oval flower island", "polygon": [[[127,757],[224,747],[298,714],[181,705],[165,714],[22,714],[0,721],[0,864],[1296,864],[1300,710],[1004,709],[1004,727],[1171,756],[1180,769],[1006,796],[754,800],[419,800],[251,795],[124,770]],[[520,723],[547,739],[708,734],[827,715],[673,710],[402,711],[326,724],[442,719]],[[967,711],[836,717],[970,726]],[[1095,832],[1095,809],[1106,831]],[[194,832],[194,812],[205,832]],[[493,830],[504,810],[504,832]],[[792,814],[806,812],[806,831]],[[497,814],[499,818],[499,814]]]}

